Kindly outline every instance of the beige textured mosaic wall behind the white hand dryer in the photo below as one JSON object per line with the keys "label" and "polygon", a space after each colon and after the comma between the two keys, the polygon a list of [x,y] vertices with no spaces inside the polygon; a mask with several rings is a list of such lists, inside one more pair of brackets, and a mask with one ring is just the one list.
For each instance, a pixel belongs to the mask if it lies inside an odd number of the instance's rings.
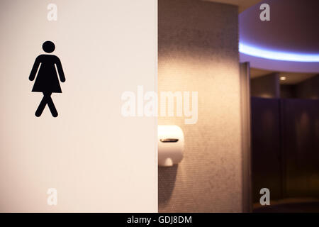
{"label": "beige textured mosaic wall behind the white hand dryer", "polygon": [[197,91],[198,121],[159,117],[185,134],[184,160],[159,167],[159,212],[242,211],[237,6],[159,0],[158,90]]}

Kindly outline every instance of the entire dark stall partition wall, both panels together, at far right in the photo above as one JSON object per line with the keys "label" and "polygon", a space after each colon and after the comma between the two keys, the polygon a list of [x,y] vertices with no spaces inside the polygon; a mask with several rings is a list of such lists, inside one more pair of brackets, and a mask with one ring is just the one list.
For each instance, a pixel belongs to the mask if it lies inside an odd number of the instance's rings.
{"label": "entire dark stall partition wall, both panels together, at far right", "polygon": [[319,197],[319,100],[252,98],[252,187]]}

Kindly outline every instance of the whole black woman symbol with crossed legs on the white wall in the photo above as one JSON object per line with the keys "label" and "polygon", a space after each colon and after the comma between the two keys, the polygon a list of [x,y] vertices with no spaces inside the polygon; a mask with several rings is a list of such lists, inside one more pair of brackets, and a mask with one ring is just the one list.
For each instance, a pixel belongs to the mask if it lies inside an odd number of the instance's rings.
{"label": "whole black woman symbol with crossed legs on the white wall", "polygon": [[[45,52],[53,52],[55,50],[55,44],[51,41],[43,43],[42,48]],[[41,65],[40,65],[41,64]],[[55,70],[55,65],[57,70]],[[38,72],[38,67],[40,70]],[[62,65],[59,57],[55,55],[39,55],[34,62],[30,73],[30,81],[35,79],[32,92],[43,92],[43,99],[41,100],[38,109],[35,111],[35,116],[41,116],[45,105],[49,106],[52,116],[57,117],[57,109],[51,99],[52,93],[62,93],[60,82],[57,77],[57,72],[60,76],[61,82],[65,82],[65,73],[63,72]]]}

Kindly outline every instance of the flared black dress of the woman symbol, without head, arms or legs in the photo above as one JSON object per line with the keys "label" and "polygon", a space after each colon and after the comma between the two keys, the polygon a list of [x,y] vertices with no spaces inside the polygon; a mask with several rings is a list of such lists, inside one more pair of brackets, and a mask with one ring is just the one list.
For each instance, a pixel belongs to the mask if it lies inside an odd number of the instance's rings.
{"label": "flared black dress of the woman symbol, without head, arms or legs", "polygon": [[54,63],[41,63],[32,92],[62,93]]}

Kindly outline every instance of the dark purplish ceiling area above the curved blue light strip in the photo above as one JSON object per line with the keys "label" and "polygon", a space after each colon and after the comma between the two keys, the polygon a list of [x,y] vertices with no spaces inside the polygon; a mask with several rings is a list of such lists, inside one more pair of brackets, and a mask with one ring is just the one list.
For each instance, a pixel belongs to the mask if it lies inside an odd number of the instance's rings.
{"label": "dark purplish ceiling area above the curved blue light strip", "polygon": [[[259,6],[270,6],[261,21]],[[240,13],[240,43],[284,52],[319,53],[319,0],[261,1]]]}

